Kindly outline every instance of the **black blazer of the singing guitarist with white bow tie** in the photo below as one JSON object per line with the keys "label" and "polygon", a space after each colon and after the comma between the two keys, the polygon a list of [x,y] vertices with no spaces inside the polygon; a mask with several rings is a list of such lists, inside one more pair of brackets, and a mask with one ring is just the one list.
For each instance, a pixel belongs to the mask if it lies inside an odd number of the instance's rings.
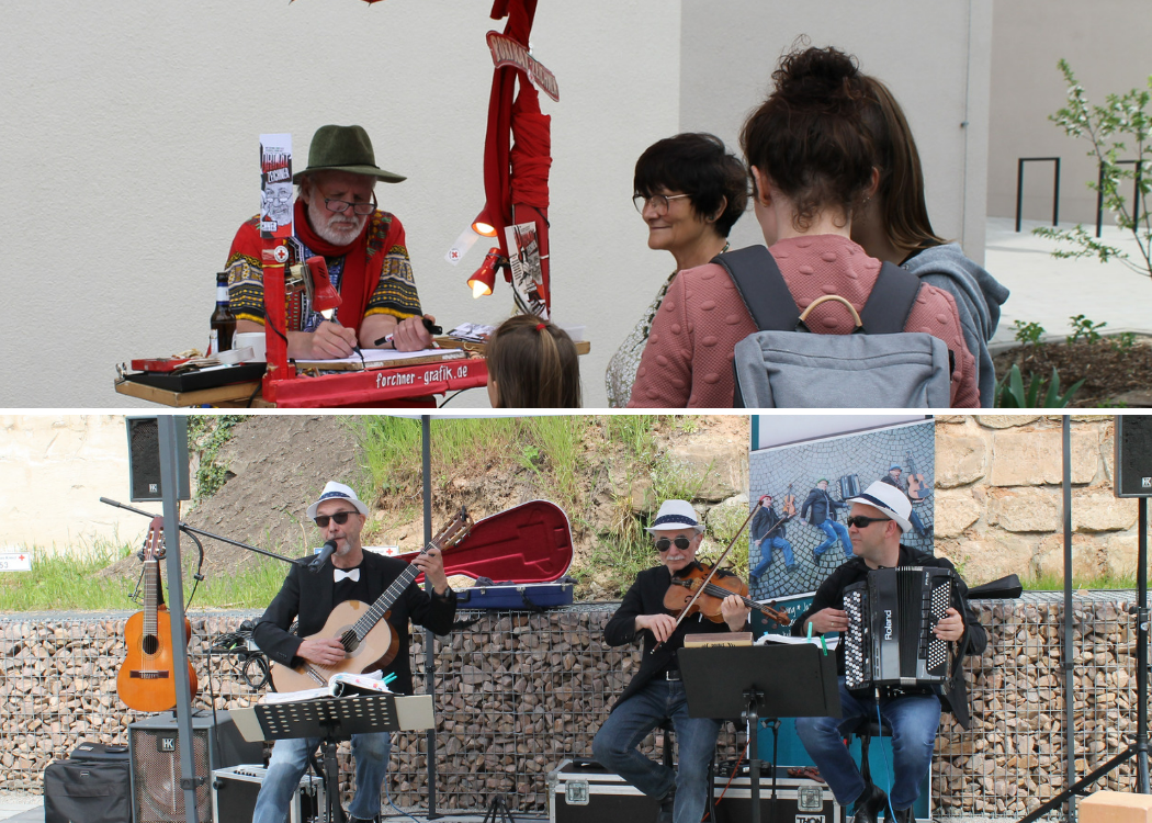
{"label": "black blazer of the singing guitarist with white bow tie", "polygon": [[[280,592],[252,631],[252,640],[260,647],[260,651],[271,659],[286,666],[300,665],[301,658],[296,657],[296,649],[300,648],[304,637],[324,628],[325,620],[338,605],[332,602],[332,592],[335,588],[332,568],[329,561],[316,574],[298,565],[293,566],[291,571],[288,572],[288,577],[280,587]],[[370,603],[374,603],[406,568],[408,568],[408,564],[403,560],[365,551],[361,574],[363,581],[366,581],[369,586]],[[400,649],[396,651],[395,659],[384,670],[386,674],[395,673],[396,675],[395,681],[389,686],[393,692],[412,693],[412,670],[408,659],[408,650],[411,645],[408,621],[411,620],[442,635],[452,631],[455,617],[456,592],[450,588],[441,597],[434,592],[429,595],[412,583],[396,598],[388,622],[396,632]],[[296,634],[291,634],[288,632],[288,627],[291,626],[293,620],[297,619],[300,625],[296,628]]]}

